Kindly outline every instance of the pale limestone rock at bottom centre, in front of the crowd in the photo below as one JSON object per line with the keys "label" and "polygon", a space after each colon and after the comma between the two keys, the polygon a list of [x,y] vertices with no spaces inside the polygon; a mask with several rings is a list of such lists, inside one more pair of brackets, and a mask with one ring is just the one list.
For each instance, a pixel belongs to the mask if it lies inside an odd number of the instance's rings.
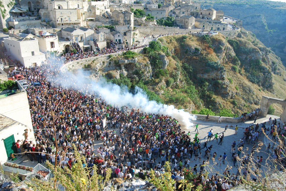
{"label": "pale limestone rock at bottom centre, in front of the crowd", "polygon": [[103,191],[156,191],[156,187],[149,181],[133,177],[128,180],[113,178],[105,184]]}

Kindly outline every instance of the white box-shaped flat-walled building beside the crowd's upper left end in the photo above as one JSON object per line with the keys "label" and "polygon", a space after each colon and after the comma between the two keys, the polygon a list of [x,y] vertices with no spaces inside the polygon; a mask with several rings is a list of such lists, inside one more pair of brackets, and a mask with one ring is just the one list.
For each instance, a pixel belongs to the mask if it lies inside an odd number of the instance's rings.
{"label": "white box-shaped flat-walled building beside the crowd's upper left end", "polygon": [[40,66],[46,61],[45,54],[40,52],[38,39],[4,38],[4,44],[7,52],[25,67]]}

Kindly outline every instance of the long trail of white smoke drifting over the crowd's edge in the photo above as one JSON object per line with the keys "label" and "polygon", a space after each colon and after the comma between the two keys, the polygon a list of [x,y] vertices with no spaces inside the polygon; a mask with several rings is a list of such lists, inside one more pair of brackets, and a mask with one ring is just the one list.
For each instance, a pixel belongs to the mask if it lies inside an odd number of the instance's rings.
{"label": "long trail of white smoke drifting over the crowd's edge", "polygon": [[94,91],[97,95],[107,101],[108,104],[116,105],[118,107],[128,106],[129,108],[136,108],[141,112],[151,114],[163,114],[172,116],[179,121],[179,124],[185,127],[192,127],[192,121],[196,120],[195,115],[184,111],[183,109],[178,110],[173,105],[158,104],[156,101],[150,101],[147,98],[146,93],[136,87],[136,93],[132,94],[128,91],[127,87],[120,87],[117,84],[107,82],[104,78],[99,81],[89,78],[90,73],[77,70],[76,73],[65,71],[65,75],[69,76],[71,80],[61,80],[61,85],[66,87],[72,87],[79,89],[79,87],[90,84],[91,91]]}

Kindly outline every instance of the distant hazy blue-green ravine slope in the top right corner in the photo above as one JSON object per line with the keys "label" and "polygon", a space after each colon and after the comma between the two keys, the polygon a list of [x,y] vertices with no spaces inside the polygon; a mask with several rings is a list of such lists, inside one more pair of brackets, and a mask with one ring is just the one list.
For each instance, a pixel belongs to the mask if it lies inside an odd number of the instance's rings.
{"label": "distant hazy blue-green ravine slope in the top right corner", "polygon": [[223,10],[225,15],[242,20],[242,26],[253,32],[257,38],[271,47],[272,50],[286,61],[283,43],[286,37],[286,4],[272,1],[259,1],[247,4],[239,1],[207,4],[201,1],[203,8],[213,7]]}

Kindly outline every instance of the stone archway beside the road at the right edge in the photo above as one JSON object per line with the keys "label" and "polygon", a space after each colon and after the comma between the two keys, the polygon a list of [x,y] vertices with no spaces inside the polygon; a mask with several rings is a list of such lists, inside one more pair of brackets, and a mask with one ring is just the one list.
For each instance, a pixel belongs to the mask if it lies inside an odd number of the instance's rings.
{"label": "stone archway beside the road at the right edge", "polygon": [[280,104],[283,108],[283,112],[281,115],[281,121],[286,121],[286,100],[279,99],[279,98],[271,98],[268,96],[262,96],[261,104],[260,104],[260,110],[261,110],[261,116],[266,117],[268,108],[271,104]]}

